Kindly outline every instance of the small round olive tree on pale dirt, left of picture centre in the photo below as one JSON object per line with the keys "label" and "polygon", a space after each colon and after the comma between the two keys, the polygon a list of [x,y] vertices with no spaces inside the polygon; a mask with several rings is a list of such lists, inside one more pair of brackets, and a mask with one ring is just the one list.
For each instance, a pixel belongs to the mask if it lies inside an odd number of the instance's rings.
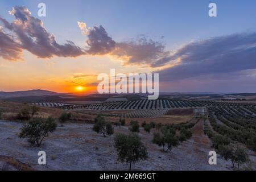
{"label": "small round olive tree on pale dirt, left of picture centre", "polygon": [[114,127],[112,123],[105,122],[104,117],[97,117],[96,123],[94,123],[93,131],[97,133],[102,133],[104,137],[114,134]]}

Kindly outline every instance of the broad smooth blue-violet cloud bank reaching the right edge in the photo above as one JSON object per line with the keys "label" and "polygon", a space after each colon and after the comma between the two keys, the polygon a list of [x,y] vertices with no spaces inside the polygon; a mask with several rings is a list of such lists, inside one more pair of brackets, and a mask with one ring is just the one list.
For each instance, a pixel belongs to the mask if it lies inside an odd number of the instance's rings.
{"label": "broad smooth blue-violet cloud bank reaching the right edge", "polygon": [[[256,34],[243,33],[191,42],[168,56],[179,64],[159,72],[163,80],[182,80],[256,68]],[[166,62],[168,63],[168,62]]]}

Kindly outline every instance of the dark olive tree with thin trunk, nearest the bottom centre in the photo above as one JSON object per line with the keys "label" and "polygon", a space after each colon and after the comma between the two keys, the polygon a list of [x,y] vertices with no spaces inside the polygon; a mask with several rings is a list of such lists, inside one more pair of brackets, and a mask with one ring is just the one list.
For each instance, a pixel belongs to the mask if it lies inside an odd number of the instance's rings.
{"label": "dark olive tree with thin trunk, nearest the bottom centre", "polygon": [[141,138],[135,133],[115,135],[114,146],[118,152],[118,160],[122,163],[129,163],[130,171],[132,163],[138,162],[138,160],[146,160],[148,157],[146,146],[144,146]]}

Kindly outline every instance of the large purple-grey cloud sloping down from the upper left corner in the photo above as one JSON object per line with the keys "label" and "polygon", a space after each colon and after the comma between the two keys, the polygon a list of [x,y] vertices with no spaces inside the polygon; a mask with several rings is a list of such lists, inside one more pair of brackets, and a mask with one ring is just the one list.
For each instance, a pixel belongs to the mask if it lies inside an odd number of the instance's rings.
{"label": "large purple-grey cloud sloping down from the upper left corner", "polygon": [[[18,49],[19,52],[7,49],[7,52],[4,54],[1,51],[0,56],[4,59],[20,59],[20,50],[22,49],[26,49],[40,58],[51,58],[53,56],[77,57],[85,54],[80,47],[71,41],[67,41],[63,45],[58,44],[55,36],[44,28],[42,20],[32,16],[27,7],[15,6],[9,13],[15,16],[15,20],[12,23],[7,22],[3,18],[0,18],[0,21],[11,32],[11,35],[9,35],[9,39],[1,36],[0,40],[1,42],[5,40],[7,44],[13,44],[13,47],[16,47],[14,49]],[[1,33],[5,34],[3,30]],[[0,48],[3,49],[2,44]]]}

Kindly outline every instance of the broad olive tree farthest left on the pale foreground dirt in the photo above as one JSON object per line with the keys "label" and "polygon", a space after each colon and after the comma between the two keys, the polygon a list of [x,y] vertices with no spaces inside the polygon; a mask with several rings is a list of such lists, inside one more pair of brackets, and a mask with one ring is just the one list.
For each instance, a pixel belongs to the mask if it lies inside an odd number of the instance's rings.
{"label": "broad olive tree farthest left on the pale foreground dirt", "polygon": [[55,131],[56,127],[57,124],[51,117],[47,119],[32,118],[27,124],[23,125],[19,138],[28,138],[28,142],[40,147],[44,138]]}

